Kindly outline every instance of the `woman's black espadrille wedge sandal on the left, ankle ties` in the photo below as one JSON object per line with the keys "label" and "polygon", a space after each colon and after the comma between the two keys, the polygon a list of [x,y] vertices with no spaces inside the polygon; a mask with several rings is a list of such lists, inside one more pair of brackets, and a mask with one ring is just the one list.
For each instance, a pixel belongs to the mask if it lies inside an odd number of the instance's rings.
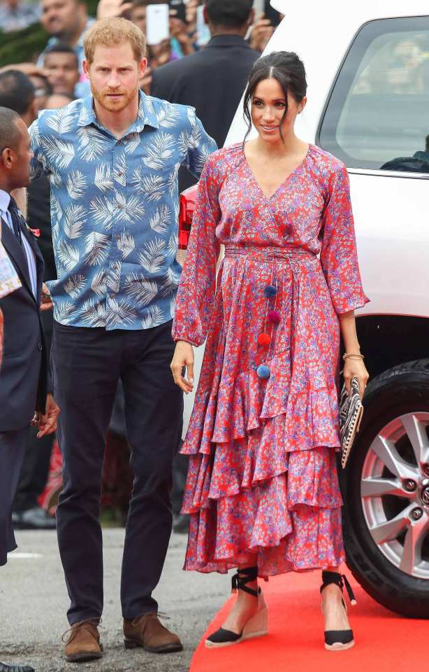
{"label": "woman's black espadrille wedge sandal on the left, ankle ties", "polygon": [[261,588],[258,588],[256,591],[253,588],[247,587],[246,585],[251,581],[256,581],[257,578],[257,567],[246,567],[245,569],[238,570],[238,573],[233,575],[233,593],[237,592],[237,590],[243,590],[245,593],[256,597],[258,600],[258,611],[245,623],[245,626],[243,627],[240,634],[233,632],[232,630],[219,628],[219,630],[212,633],[210,637],[205,640],[206,647],[215,648],[221,646],[232,646],[233,644],[239,644],[246,639],[253,639],[255,637],[268,635],[268,607],[263,597]]}

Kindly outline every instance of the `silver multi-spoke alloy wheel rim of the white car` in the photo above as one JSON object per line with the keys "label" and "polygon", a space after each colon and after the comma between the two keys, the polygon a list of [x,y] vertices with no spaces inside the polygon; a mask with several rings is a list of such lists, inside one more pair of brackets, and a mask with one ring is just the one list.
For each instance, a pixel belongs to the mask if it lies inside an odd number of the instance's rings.
{"label": "silver multi-spoke alloy wheel rim of the white car", "polygon": [[361,475],[363,514],[393,566],[429,581],[429,413],[407,413],[377,434]]}

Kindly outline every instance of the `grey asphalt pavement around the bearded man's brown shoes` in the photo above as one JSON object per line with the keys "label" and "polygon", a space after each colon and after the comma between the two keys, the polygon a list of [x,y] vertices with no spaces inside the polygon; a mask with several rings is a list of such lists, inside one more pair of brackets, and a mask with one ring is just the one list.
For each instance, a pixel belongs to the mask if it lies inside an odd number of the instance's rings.
{"label": "grey asphalt pavement around the bearded man's brown shoes", "polygon": [[67,663],[61,636],[68,629],[68,595],[51,531],[17,531],[19,548],[0,568],[0,661],[31,664],[39,672],[185,672],[206,626],[228,597],[228,577],[182,570],[187,535],[173,535],[161,582],[154,593],[164,621],[182,638],[184,651],[149,654],[125,650],[119,603],[122,528],[105,529],[103,658]]}

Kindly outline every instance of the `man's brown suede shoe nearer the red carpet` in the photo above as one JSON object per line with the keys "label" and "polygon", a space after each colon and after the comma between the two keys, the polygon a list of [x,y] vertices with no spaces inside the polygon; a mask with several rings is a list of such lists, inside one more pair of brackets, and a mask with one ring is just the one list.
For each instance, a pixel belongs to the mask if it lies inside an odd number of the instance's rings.
{"label": "man's brown suede shoe nearer the red carpet", "polygon": [[124,644],[126,649],[143,647],[150,653],[182,651],[182,642],[166,629],[157,614],[142,614],[133,620],[124,618]]}

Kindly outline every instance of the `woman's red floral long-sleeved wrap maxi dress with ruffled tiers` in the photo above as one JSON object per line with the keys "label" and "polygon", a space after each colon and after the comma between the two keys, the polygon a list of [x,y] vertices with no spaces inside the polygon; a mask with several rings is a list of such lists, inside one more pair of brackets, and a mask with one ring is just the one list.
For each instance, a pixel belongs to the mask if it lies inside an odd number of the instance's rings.
{"label": "woman's red floral long-sleeved wrap maxi dress with ruffled tiers", "polygon": [[339,160],[310,145],[268,198],[241,145],[210,156],[173,325],[175,340],[207,337],[182,449],[185,569],[226,572],[249,553],[261,577],[343,561],[337,314],[367,301]]}

